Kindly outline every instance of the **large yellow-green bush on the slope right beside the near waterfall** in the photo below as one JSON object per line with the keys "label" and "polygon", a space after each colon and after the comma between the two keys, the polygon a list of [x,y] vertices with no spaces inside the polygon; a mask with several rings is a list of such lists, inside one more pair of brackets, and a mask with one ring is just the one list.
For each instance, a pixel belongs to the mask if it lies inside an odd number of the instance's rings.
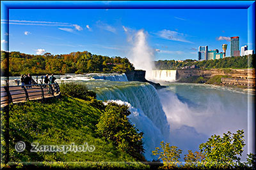
{"label": "large yellow-green bush on the slope right beside the near waterfall", "polygon": [[106,111],[102,113],[100,122],[97,124],[97,132],[113,141],[118,149],[129,153],[137,160],[145,160],[142,153],[143,132],[131,125],[127,116],[131,114],[128,106],[116,103],[108,103]]}

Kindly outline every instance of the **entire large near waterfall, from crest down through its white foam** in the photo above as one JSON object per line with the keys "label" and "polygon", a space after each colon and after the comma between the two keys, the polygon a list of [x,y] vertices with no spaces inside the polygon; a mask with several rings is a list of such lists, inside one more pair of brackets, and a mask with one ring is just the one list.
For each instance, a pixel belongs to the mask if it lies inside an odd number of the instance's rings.
{"label": "entire large near waterfall, from crest down through its white foam", "polygon": [[155,150],[165,137],[168,138],[170,126],[156,89],[148,83],[130,82],[127,82],[127,85],[112,83],[94,90],[99,100],[115,100],[129,106],[132,124],[144,132],[145,158],[156,159],[152,150]]}

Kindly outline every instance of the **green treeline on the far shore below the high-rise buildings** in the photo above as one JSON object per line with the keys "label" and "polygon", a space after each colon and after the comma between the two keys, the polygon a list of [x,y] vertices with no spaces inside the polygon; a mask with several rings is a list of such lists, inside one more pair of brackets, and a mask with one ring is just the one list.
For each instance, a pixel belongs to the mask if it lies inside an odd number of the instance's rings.
{"label": "green treeline on the far shore below the high-rise buildings", "polygon": [[156,69],[179,69],[182,67],[196,66],[200,69],[212,68],[252,68],[255,67],[255,55],[244,55],[238,57],[225,57],[215,60],[157,60]]}

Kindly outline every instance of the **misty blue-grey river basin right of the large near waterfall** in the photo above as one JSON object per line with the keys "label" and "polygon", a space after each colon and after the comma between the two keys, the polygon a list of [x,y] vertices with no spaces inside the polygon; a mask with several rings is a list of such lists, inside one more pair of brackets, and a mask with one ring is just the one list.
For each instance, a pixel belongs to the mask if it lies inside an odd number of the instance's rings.
{"label": "misty blue-grey river basin right of the large near waterfall", "polygon": [[[175,93],[170,89],[157,90],[170,123],[169,140],[172,145],[184,151],[198,150],[198,146],[212,134],[221,135],[227,131],[236,132],[237,129],[244,129],[247,141],[247,95],[240,96],[215,88],[189,85],[177,86]],[[227,102],[228,99],[232,101]],[[247,146],[244,155],[246,150]]]}

